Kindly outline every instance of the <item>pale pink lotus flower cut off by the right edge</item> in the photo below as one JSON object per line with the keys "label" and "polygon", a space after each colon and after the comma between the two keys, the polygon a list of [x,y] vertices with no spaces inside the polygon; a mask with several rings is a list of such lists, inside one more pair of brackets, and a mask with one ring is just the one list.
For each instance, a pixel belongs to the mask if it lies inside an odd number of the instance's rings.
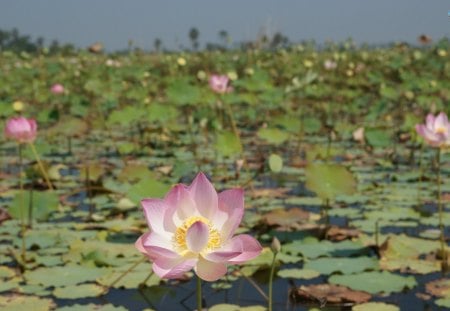
{"label": "pale pink lotus flower cut off by the right edge", "polygon": [[425,124],[416,125],[417,133],[433,147],[450,145],[450,123],[447,115],[443,112],[434,117],[431,113],[427,115]]}

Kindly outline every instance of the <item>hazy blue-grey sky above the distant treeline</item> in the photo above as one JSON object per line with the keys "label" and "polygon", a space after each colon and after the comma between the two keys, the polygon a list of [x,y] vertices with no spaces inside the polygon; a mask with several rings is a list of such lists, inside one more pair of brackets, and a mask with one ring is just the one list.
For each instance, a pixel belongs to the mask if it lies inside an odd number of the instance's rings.
{"label": "hazy blue-grey sky above the distant treeline", "polygon": [[233,42],[251,41],[266,31],[291,41],[314,39],[381,44],[414,43],[421,34],[450,37],[449,0],[0,0],[0,29],[17,28],[87,47],[102,42],[124,49],[129,40],[144,49],[160,38],[166,48],[219,42],[226,30]]}

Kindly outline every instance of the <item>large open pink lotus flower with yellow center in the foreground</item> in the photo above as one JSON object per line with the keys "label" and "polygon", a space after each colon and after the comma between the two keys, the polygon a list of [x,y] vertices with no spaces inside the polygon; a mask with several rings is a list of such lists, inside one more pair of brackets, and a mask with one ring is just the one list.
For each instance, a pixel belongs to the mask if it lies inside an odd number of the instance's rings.
{"label": "large open pink lotus flower with yellow center in the foreground", "polygon": [[150,232],[135,245],[161,278],[180,278],[194,269],[201,279],[215,281],[225,275],[227,264],[261,253],[250,235],[233,237],[244,214],[243,190],[218,194],[203,173],[190,186],[174,186],[163,200],[144,199],[141,205]]}

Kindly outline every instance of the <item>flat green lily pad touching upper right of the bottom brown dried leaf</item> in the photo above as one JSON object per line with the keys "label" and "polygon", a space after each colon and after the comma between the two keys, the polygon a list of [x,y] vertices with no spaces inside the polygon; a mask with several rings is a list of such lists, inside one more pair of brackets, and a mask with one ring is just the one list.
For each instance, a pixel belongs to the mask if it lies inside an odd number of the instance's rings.
{"label": "flat green lily pad touching upper right of the bottom brown dried leaf", "polygon": [[413,288],[417,285],[416,279],[412,276],[400,276],[387,271],[333,275],[328,281],[370,294],[397,293],[405,288]]}

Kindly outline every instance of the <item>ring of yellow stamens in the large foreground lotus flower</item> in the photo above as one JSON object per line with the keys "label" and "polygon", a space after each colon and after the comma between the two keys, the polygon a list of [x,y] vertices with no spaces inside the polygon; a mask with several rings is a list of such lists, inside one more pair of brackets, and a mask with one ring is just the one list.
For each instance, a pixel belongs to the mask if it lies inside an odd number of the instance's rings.
{"label": "ring of yellow stamens in the large foreground lotus flower", "polygon": [[204,223],[209,228],[208,242],[206,243],[206,246],[204,247],[203,251],[205,250],[211,251],[220,246],[221,239],[219,231],[217,231],[217,229],[215,229],[211,225],[211,222],[202,216],[192,216],[189,217],[187,220],[185,220],[184,223],[177,228],[174,234],[174,243],[176,248],[180,251],[180,253],[187,253],[189,251],[188,246],[186,244],[186,234],[189,228],[198,221]]}

